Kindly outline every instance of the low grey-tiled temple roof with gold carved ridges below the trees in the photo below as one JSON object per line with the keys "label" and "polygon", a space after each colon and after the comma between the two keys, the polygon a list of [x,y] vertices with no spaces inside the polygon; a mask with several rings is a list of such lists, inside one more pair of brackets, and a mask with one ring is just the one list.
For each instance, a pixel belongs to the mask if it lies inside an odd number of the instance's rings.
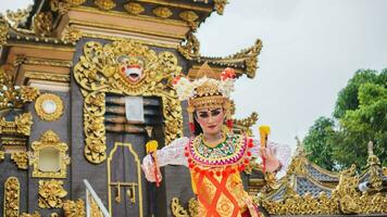
{"label": "low grey-tiled temple roof with gold carved ridges below the trees", "polygon": [[259,199],[267,213],[275,215],[384,214],[386,168],[380,167],[372,150],[370,143],[367,168],[355,175],[354,165],[340,173],[314,165],[299,145],[286,176]]}

